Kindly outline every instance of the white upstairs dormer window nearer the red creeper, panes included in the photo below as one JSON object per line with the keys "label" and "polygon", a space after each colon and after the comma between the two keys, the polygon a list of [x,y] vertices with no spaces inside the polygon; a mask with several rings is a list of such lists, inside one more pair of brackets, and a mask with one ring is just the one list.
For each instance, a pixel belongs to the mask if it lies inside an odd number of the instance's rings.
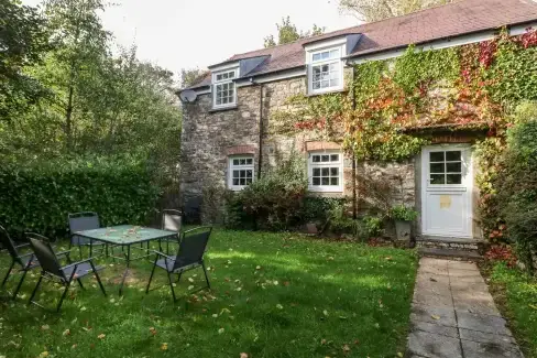
{"label": "white upstairs dormer window nearer the red creeper, panes included", "polygon": [[343,88],[341,47],[309,53],[309,93],[318,94]]}

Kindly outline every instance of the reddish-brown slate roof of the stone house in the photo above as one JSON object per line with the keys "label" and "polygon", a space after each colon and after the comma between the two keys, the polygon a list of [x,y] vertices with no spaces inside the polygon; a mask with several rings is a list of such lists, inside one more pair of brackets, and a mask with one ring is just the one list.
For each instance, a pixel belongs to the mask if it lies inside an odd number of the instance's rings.
{"label": "reddish-brown slate roof of the stone house", "polygon": [[[362,34],[349,55],[354,57],[531,21],[537,21],[535,0],[463,0],[300,39],[285,45],[233,55],[223,63],[268,55],[270,58],[248,74],[248,77],[251,77],[305,66],[304,45],[341,35]],[[190,88],[208,85],[210,85],[210,76],[202,78]]]}

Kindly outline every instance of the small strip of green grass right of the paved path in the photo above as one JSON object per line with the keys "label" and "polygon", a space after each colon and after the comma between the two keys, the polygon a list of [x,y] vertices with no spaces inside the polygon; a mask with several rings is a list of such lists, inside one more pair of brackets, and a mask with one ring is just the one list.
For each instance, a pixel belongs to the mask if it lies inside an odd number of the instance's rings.
{"label": "small strip of green grass right of the paved path", "polygon": [[537,358],[537,280],[496,263],[491,282],[526,358]]}

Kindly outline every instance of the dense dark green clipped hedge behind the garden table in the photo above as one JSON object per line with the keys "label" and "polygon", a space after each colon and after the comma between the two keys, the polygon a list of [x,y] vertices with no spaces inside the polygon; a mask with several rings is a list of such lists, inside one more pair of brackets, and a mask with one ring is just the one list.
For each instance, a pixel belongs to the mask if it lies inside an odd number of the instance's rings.
{"label": "dense dark green clipped hedge behind the garden table", "polygon": [[96,211],[103,226],[144,224],[158,195],[151,167],[132,158],[8,164],[0,167],[0,225],[53,239],[67,236],[68,213]]}

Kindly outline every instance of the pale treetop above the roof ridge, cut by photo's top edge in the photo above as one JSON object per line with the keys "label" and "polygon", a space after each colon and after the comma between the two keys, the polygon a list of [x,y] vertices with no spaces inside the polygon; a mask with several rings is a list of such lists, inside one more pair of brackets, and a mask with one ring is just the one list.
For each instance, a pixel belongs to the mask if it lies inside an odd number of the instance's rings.
{"label": "pale treetop above the roof ridge, cut by photo's top edge", "polygon": [[453,0],[340,0],[342,11],[355,15],[360,21],[373,22],[404,15]]}

